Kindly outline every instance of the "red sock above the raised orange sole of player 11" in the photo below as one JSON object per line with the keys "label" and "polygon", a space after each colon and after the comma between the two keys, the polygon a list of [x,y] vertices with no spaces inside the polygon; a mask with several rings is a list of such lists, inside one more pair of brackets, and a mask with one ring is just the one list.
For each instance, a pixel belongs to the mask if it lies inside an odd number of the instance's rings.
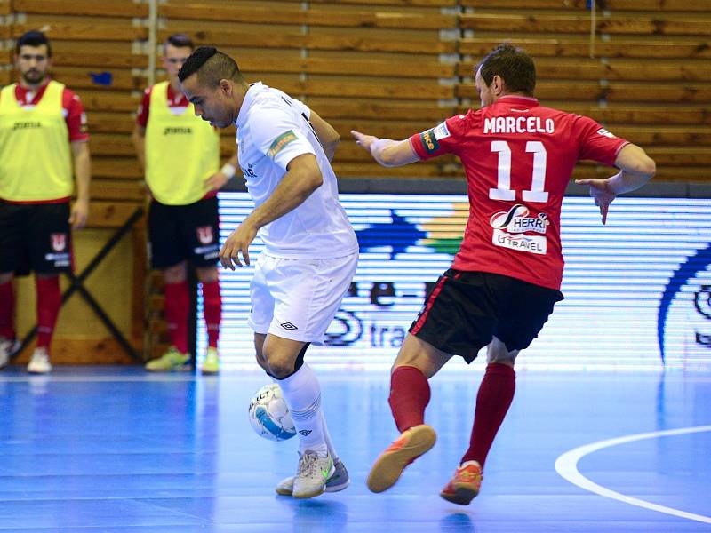
{"label": "red sock above the raised orange sole of player 11", "polygon": [[425,408],[429,403],[429,384],[422,370],[401,366],[390,376],[390,397],[395,426],[400,433],[425,423]]}

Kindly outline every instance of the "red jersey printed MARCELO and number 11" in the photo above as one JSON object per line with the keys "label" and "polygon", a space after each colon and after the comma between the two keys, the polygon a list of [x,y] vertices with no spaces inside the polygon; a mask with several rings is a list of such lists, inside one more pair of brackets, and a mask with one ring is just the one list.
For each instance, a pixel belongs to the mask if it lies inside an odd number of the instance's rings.
{"label": "red jersey printed MARCELO and number 11", "polygon": [[453,268],[503,274],[550,289],[563,277],[560,218],[575,163],[613,165],[627,144],[587,116],[505,96],[410,139],[420,159],[459,156],[469,219]]}

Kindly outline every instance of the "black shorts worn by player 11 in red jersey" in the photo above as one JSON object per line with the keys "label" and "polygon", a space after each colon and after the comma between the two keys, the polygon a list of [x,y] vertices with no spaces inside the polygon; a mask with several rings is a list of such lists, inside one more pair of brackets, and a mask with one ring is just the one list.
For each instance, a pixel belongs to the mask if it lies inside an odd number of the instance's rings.
{"label": "black shorts worn by player 11 in red jersey", "polygon": [[509,352],[527,348],[562,299],[560,290],[506,275],[450,268],[427,294],[410,332],[472,362],[494,336]]}

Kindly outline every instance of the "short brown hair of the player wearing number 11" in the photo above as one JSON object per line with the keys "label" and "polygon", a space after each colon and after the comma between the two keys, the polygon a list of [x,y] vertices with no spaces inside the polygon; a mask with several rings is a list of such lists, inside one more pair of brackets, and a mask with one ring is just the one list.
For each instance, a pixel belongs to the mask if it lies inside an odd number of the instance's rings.
{"label": "short brown hair of the player wearing number 11", "polygon": [[536,88],[536,66],[531,56],[513,44],[499,44],[484,56],[479,63],[484,83],[488,87],[494,76],[501,76],[506,82],[507,91],[523,92],[533,96]]}

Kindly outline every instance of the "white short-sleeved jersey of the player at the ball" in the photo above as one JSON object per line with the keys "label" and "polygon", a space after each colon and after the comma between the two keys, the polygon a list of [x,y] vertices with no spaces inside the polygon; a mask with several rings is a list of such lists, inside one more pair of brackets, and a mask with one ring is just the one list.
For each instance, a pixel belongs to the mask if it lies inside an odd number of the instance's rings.
{"label": "white short-sleeved jersey of the player at the ball", "polygon": [[295,157],[313,154],[324,183],[304,203],[260,228],[265,253],[287,259],[332,259],[358,250],[338,199],[338,184],[308,118],[310,109],[267,85],[252,84],[236,120],[239,164],[255,205],[267,201]]}

